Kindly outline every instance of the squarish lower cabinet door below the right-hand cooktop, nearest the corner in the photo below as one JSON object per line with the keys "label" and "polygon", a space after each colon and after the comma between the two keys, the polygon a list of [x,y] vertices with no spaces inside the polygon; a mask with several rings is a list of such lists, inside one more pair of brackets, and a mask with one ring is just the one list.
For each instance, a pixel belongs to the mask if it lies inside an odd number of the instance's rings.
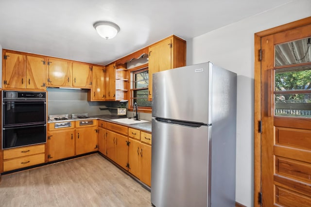
{"label": "squarish lower cabinet door below the right-hand cooktop, nearest the corner", "polygon": [[76,129],[76,155],[97,150],[97,127],[83,127]]}

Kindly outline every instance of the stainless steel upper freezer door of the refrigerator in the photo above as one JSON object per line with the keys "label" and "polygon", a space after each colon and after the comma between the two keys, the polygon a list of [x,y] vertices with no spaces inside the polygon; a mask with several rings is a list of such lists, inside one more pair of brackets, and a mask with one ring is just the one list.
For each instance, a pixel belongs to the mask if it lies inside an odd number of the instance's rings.
{"label": "stainless steel upper freezer door of the refrigerator", "polygon": [[212,65],[195,64],[155,73],[152,116],[210,124]]}

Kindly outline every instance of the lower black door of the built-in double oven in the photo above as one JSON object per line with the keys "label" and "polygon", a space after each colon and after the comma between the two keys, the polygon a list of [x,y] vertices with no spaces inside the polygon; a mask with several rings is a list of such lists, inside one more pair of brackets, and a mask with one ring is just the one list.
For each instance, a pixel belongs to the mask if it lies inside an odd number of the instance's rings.
{"label": "lower black door of the built-in double oven", "polygon": [[6,127],[2,129],[2,149],[46,143],[46,125]]}

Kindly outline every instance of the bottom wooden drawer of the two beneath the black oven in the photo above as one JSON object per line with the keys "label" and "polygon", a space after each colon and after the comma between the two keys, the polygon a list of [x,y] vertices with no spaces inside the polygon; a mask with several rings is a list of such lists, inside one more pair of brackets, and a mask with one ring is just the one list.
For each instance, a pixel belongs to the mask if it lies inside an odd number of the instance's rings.
{"label": "bottom wooden drawer of the two beneath the black oven", "polygon": [[3,162],[3,171],[15,170],[18,168],[28,167],[44,163],[45,154],[30,155],[22,158],[9,159]]}

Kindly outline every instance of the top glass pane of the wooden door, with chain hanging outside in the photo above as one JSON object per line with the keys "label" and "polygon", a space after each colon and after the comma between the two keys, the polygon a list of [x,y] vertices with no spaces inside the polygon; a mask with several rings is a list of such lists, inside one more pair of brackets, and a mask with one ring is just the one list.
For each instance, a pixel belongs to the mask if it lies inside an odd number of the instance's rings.
{"label": "top glass pane of the wooden door, with chain hanging outside", "polygon": [[275,46],[275,66],[311,62],[311,37]]}

